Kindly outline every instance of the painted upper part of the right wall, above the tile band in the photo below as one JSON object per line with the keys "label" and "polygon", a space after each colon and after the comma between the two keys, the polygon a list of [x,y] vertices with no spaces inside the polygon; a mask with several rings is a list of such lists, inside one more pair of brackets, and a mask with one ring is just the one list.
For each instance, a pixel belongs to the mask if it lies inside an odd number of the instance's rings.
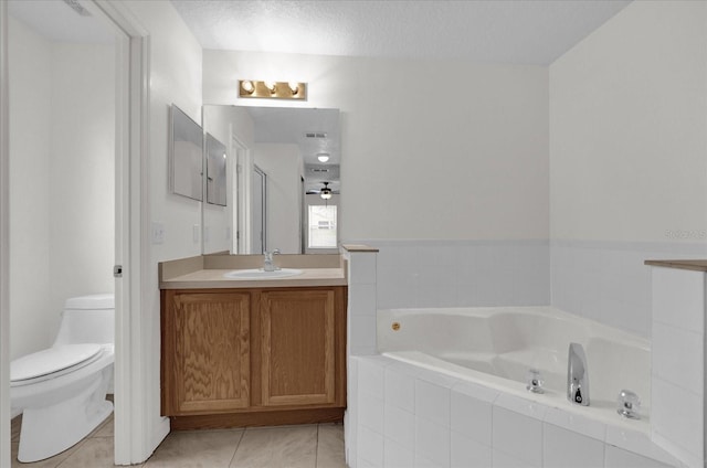
{"label": "painted upper part of the right wall, above the tile band", "polygon": [[706,9],[633,2],[550,66],[553,238],[707,228]]}

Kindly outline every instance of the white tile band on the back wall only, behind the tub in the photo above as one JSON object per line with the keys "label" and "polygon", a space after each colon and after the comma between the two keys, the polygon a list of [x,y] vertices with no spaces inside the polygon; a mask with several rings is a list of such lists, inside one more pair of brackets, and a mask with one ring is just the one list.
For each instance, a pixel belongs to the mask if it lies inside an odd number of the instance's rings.
{"label": "white tile band on the back wall only, behind the tub", "polygon": [[366,241],[378,308],[547,306],[548,241]]}

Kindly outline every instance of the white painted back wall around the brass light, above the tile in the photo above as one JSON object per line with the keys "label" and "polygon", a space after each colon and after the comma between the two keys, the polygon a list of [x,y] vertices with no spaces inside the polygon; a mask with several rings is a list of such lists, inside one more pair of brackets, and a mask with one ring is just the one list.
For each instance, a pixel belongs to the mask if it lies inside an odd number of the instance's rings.
{"label": "white painted back wall around the brass light, above the tile", "polygon": [[[273,105],[240,102],[236,81],[294,76],[309,88],[293,106],[341,110],[344,241],[548,237],[547,67],[210,50],[203,59],[205,103]],[[464,93],[425,92],[430,83]]]}

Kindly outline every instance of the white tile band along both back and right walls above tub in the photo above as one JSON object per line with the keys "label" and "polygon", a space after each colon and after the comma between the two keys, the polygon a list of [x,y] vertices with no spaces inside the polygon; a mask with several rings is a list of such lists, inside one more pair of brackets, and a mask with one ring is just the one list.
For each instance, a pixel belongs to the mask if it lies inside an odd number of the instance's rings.
{"label": "white tile band along both back and right walls above tub", "polygon": [[377,309],[552,305],[645,338],[651,270],[644,260],[707,255],[705,243],[678,242],[358,242],[379,248]]}

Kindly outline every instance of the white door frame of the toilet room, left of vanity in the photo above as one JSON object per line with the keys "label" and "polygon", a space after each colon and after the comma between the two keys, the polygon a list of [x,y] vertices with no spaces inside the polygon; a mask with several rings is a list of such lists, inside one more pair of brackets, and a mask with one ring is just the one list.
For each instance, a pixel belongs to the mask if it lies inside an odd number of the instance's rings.
{"label": "white door frame of the toilet room, left of vanity", "polygon": [[[115,464],[145,461],[159,429],[151,405],[151,337],[146,332],[150,297],[143,288],[149,277],[149,63],[148,31],[122,2],[93,0],[120,30],[116,41],[116,278]],[[120,174],[120,176],[118,176]],[[159,370],[157,371],[159,372]],[[162,421],[162,424],[163,421]],[[166,430],[161,433],[167,435]],[[159,440],[158,440],[159,442]]]}

